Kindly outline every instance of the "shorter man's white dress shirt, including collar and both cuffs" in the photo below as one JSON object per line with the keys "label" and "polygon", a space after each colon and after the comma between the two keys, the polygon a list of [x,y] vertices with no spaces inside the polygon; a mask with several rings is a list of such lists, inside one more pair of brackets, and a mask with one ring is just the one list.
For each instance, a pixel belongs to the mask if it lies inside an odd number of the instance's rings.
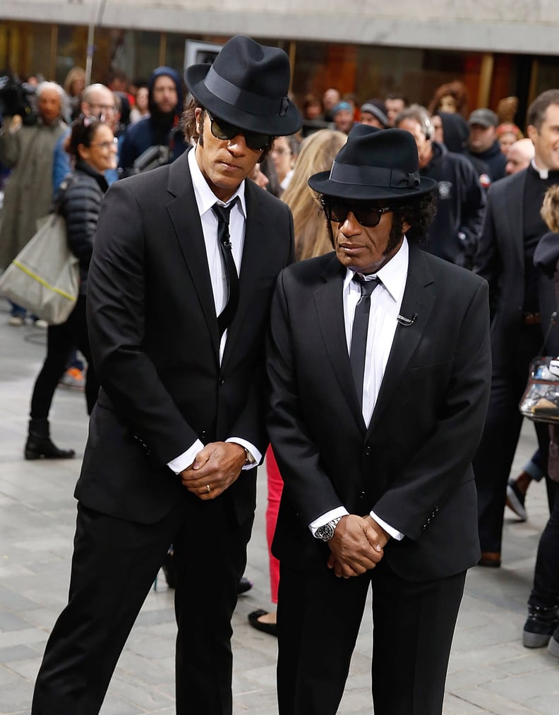
{"label": "shorter man's white dress shirt, including collar and both cuffs", "polygon": [[[380,279],[371,293],[371,309],[369,313],[369,328],[367,330],[367,352],[365,353],[365,377],[363,379],[362,414],[365,424],[371,421],[373,410],[377,403],[380,385],[384,377],[388,355],[392,350],[392,342],[398,325],[397,318],[402,307],[405,284],[407,280],[407,266],[409,262],[410,250],[407,239],[404,238],[400,250],[388,261],[378,273],[373,273],[369,278]],[[361,297],[359,285],[353,280],[354,272],[347,270],[344,287],[344,320],[345,339],[347,341],[347,352],[350,352],[351,335],[353,328],[353,317],[355,307]],[[315,535],[317,528],[323,526],[328,521],[337,516],[345,516],[349,512],[345,507],[332,509],[310,523],[309,528]],[[401,541],[404,535],[397,529],[378,518],[374,511],[370,512],[375,521],[382,526],[393,538]]]}

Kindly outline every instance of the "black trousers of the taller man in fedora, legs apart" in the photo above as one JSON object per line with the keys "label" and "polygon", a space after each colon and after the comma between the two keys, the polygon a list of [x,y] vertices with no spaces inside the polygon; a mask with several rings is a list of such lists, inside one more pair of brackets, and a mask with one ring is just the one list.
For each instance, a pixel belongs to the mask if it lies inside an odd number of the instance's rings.
{"label": "black trousers of the taller man in fedora, legs apart", "polygon": [[181,501],[154,524],[78,506],[68,606],[36,679],[33,715],[97,715],[170,544],[177,558],[177,714],[231,715],[231,618],[252,519],[224,498]]}

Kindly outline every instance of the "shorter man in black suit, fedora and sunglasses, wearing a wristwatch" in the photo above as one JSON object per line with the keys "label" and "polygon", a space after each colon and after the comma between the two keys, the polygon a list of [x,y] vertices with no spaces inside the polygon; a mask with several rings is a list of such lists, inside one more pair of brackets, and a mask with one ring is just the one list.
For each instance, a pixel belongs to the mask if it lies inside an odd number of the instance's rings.
{"label": "shorter man in black suit, fedora and sunglasses, wearing a wristwatch", "polygon": [[436,715],[480,553],[488,287],[415,244],[435,182],[410,132],[358,125],[309,184],[335,253],[280,274],[267,358],[280,714],[337,711],[371,586],[375,715]]}

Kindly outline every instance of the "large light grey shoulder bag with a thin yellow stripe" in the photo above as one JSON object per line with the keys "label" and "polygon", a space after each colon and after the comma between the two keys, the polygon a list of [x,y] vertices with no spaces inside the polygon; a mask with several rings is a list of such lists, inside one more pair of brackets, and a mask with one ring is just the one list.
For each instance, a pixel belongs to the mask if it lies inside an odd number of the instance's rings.
{"label": "large light grey shoulder bag with a thin yellow stripe", "polygon": [[59,207],[60,199],[53,213],[39,219],[39,230],[0,277],[6,298],[49,325],[65,322],[79,295],[79,260],[69,248]]}

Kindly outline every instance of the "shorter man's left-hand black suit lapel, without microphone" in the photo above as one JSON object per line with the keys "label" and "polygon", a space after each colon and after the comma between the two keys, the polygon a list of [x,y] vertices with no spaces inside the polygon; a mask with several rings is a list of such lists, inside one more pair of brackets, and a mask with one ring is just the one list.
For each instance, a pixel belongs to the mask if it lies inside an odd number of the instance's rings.
{"label": "shorter man's left-hand black suit lapel, without microphone", "polygon": [[324,341],[326,354],[340,384],[342,395],[346,395],[355,421],[360,425],[362,432],[365,433],[361,401],[357,400],[357,394],[355,393],[350,355],[347,352],[347,339],[345,336],[342,295],[345,268],[340,265],[335,255],[332,254],[332,258],[327,263],[321,277],[324,280],[324,285],[315,290],[315,305],[320,333]]}

